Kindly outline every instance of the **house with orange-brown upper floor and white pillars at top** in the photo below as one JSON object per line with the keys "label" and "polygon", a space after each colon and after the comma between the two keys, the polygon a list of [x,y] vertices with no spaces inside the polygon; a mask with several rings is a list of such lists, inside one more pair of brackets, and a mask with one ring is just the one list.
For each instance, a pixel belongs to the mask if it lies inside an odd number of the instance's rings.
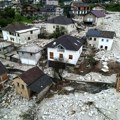
{"label": "house with orange-brown upper floor and white pillars at top", "polygon": [[71,3],[71,14],[74,16],[82,16],[87,14],[91,10],[90,5],[83,2],[72,2]]}

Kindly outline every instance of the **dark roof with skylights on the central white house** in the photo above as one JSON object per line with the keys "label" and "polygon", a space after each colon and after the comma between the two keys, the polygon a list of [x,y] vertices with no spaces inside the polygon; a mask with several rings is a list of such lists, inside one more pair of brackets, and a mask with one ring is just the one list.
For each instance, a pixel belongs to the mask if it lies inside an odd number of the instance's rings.
{"label": "dark roof with skylights on the central white house", "polygon": [[67,50],[78,51],[84,42],[85,39],[83,38],[79,39],[70,35],[63,35],[46,45],[46,47],[55,48],[62,45]]}

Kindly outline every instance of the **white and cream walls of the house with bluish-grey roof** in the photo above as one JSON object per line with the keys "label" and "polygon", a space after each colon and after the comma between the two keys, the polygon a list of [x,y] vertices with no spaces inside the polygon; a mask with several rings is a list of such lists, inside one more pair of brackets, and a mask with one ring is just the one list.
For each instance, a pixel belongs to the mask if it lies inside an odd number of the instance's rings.
{"label": "white and cream walls of the house with bluish-grey roof", "polygon": [[[94,46],[96,49],[104,49],[105,46],[107,46],[107,50],[111,50],[112,44],[113,44],[113,39],[110,38],[96,38],[96,37],[90,37],[92,40],[87,39],[88,45]],[[94,40],[96,38],[96,40]],[[102,41],[103,39],[103,41]],[[103,46],[101,48],[101,46]]]}

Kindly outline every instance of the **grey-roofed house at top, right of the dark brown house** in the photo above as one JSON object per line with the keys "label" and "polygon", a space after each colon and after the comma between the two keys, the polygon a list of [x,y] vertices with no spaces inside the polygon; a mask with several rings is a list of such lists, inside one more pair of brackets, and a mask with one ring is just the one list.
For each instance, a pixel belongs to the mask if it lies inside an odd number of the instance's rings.
{"label": "grey-roofed house at top, right of the dark brown house", "polygon": [[42,15],[60,16],[63,15],[63,9],[56,5],[45,5],[40,9]]}

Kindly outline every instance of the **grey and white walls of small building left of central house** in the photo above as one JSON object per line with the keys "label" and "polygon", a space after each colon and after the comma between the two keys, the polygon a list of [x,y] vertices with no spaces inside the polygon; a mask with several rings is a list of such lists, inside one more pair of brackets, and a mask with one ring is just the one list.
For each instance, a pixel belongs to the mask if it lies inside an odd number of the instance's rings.
{"label": "grey and white walls of small building left of central house", "polygon": [[18,52],[22,64],[36,65],[41,57],[41,52],[31,55],[31,53]]}

